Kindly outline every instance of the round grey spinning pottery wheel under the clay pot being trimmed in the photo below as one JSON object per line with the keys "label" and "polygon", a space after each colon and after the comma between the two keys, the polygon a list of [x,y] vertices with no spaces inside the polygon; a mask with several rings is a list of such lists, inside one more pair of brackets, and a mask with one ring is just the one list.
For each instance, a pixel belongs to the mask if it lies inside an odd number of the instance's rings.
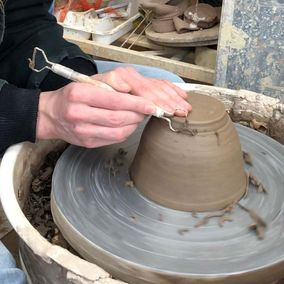
{"label": "round grey spinning pottery wheel under the clay pot being trimmed", "polygon": [[[52,184],[55,222],[84,258],[132,283],[269,283],[283,276],[284,147],[249,128],[236,128],[243,151],[253,161],[246,170],[268,191],[257,193],[250,185],[247,198],[240,201],[267,222],[264,240],[248,229],[252,220],[239,207],[223,227],[212,219],[195,228],[207,213],[194,218],[127,186],[139,131],[119,145],[70,146],[63,153]],[[127,154],[113,171],[110,160],[119,148]]]}

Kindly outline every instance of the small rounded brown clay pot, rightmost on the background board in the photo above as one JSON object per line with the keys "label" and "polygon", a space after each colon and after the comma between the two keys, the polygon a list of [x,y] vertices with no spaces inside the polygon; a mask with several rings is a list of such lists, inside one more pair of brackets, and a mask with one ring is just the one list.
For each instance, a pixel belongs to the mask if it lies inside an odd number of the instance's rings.
{"label": "small rounded brown clay pot, rightmost on the background board", "polygon": [[192,5],[184,12],[184,20],[191,30],[208,29],[218,22],[216,9],[209,4]]}

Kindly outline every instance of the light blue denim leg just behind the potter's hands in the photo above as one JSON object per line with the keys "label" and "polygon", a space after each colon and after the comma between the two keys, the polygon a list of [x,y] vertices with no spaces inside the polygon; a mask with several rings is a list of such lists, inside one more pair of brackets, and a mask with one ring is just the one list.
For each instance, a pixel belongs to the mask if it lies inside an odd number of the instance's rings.
{"label": "light blue denim leg just behind the potter's hands", "polygon": [[125,66],[132,66],[134,67],[140,74],[144,75],[145,77],[151,77],[156,79],[163,79],[168,80],[175,83],[183,83],[184,81],[172,72],[156,68],[156,67],[149,67],[144,65],[138,64],[127,64],[127,63],[119,63],[119,62],[112,62],[112,61],[103,61],[103,60],[95,60],[98,68],[99,73],[105,73],[111,71],[117,67],[125,67]]}

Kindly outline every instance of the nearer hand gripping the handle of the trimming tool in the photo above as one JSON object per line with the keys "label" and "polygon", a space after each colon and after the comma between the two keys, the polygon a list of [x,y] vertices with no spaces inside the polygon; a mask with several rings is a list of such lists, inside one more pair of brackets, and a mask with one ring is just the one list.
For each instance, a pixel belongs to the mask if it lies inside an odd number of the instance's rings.
{"label": "nearer hand gripping the handle of the trimming tool", "polygon": [[70,83],[42,92],[37,138],[62,139],[88,148],[124,141],[144,115],[155,112],[153,102],[126,93]]}

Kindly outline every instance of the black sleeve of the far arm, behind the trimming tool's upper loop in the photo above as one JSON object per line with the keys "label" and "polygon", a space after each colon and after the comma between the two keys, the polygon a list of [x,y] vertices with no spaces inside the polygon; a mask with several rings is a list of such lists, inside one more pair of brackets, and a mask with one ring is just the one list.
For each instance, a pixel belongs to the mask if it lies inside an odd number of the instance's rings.
{"label": "black sleeve of the far arm, behind the trimming tool's upper loop", "polygon": [[[36,73],[28,67],[34,47],[42,48],[50,61],[81,58],[93,65],[92,58],[63,39],[63,29],[48,12],[50,0],[9,0],[5,5],[6,27],[0,45],[0,78],[21,88],[39,88],[48,70]],[[39,62],[40,63],[40,62]]]}

